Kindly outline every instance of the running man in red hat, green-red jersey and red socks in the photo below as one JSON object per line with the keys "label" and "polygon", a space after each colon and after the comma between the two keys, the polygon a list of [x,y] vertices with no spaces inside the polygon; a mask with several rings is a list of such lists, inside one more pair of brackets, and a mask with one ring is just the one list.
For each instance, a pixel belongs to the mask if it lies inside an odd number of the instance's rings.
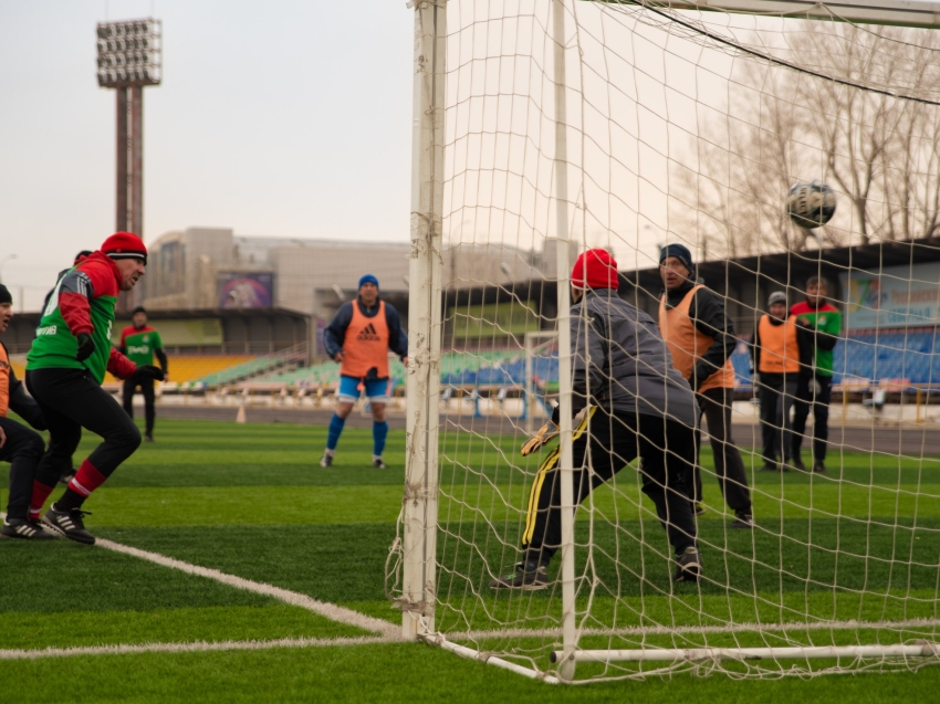
{"label": "running man in red hat, green-red jersey and red socks", "polygon": [[27,386],[51,433],[33,482],[30,511],[42,509],[64,467],[71,464],[82,428],[104,438],[43,523],[66,538],[94,545],[82,504],[140,445],[140,432],[117,401],[101,388],[105,371],[118,379],[163,379],[149,365],[136,366],[111,346],[114,306],[145,273],[147,249],[136,234],[117,232],[63,276],[45,307],[27,357]]}

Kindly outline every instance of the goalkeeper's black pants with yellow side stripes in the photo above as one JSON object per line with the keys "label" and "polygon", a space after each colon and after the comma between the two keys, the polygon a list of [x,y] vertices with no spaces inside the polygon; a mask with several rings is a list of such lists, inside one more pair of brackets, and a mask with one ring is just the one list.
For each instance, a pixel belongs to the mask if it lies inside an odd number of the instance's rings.
{"label": "goalkeeper's black pants with yellow side stripes", "polygon": [[[692,428],[661,416],[609,413],[595,407],[575,429],[572,450],[575,505],[639,456],[643,493],[656,505],[676,554],[696,545],[696,521],[685,484],[696,461]],[[522,536],[526,559],[545,563],[562,542],[560,454],[560,448],[549,453],[529,494]]]}

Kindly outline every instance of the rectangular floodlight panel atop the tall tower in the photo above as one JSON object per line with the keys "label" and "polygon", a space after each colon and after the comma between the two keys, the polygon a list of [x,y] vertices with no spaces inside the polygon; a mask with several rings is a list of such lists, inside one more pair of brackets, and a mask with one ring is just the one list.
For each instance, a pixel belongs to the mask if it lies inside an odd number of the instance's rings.
{"label": "rectangular floodlight panel atop the tall tower", "polygon": [[153,18],[97,25],[98,85],[107,88],[159,85],[163,22]]}

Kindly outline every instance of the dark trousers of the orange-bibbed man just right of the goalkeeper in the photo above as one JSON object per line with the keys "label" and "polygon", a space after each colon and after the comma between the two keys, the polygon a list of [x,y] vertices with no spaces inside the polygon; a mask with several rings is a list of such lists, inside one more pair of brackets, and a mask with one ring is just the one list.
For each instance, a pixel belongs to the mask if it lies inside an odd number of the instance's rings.
{"label": "dark trousers of the orange-bibbed man just right of the goalkeeper", "polygon": [[[748,474],[744,461],[731,438],[731,401],[734,389],[717,388],[696,393],[696,400],[708,423],[708,434],[711,449],[714,452],[714,474],[721,495],[731,511],[751,512],[751,491],[748,488]],[[693,502],[702,500],[701,473],[701,423],[694,433],[696,462],[688,470],[686,485],[689,487],[689,498]]]}

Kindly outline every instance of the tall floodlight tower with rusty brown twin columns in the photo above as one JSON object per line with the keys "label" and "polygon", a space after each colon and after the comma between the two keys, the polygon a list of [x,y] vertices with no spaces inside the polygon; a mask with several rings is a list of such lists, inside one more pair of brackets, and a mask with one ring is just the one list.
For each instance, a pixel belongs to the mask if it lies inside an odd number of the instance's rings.
{"label": "tall floodlight tower with rusty brown twin columns", "polygon": [[[144,235],[144,86],[163,77],[159,20],[100,22],[98,85],[117,92],[117,219],[115,230]],[[130,305],[121,296],[118,306]]]}

